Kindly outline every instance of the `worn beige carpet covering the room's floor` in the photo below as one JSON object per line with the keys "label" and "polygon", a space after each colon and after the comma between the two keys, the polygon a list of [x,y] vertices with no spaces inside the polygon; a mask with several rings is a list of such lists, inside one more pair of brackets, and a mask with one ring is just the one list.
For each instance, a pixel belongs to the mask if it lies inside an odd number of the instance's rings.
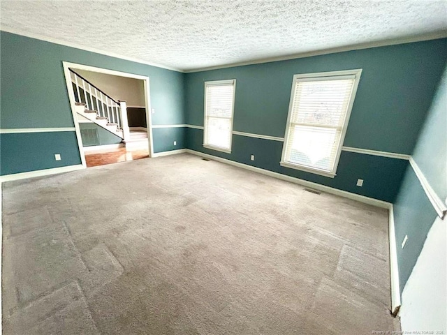
{"label": "worn beige carpet covering the room's floor", "polygon": [[3,334],[372,334],[388,213],[197,156],[3,184]]}

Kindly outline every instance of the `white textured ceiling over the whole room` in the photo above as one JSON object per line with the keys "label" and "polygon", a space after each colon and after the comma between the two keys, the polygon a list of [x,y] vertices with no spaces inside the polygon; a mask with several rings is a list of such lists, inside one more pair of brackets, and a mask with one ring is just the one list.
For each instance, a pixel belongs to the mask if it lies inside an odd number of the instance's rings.
{"label": "white textured ceiling over the whole room", "polygon": [[1,27],[181,70],[442,32],[447,1],[5,1]]}

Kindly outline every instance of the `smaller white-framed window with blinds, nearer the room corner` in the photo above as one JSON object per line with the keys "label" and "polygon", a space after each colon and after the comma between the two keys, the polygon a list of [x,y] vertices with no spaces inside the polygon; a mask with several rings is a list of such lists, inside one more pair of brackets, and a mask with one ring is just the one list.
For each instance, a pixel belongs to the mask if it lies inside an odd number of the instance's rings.
{"label": "smaller white-framed window with blinds, nearer the room corner", "polygon": [[236,80],[205,82],[203,147],[231,152]]}

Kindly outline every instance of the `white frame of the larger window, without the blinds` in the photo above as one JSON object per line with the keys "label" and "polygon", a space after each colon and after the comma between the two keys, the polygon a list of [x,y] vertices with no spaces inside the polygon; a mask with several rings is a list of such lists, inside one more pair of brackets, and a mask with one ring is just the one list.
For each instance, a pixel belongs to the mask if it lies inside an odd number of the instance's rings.
{"label": "white frame of the larger window, without the blinds", "polygon": [[[319,73],[303,73],[303,74],[297,74],[293,75],[293,81],[292,81],[292,89],[291,89],[291,100],[288,105],[288,115],[287,115],[287,123],[286,123],[286,133],[284,135],[284,144],[282,147],[282,154],[281,154],[281,161],[279,164],[283,166],[284,168],[291,168],[295,170],[301,170],[305,172],[311,172],[314,174],[320,174],[324,177],[330,177],[334,178],[337,175],[337,168],[338,163],[340,159],[340,155],[342,154],[342,148],[344,144],[344,137],[346,135],[346,130],[348,128],[349,124],[349,118],[351,117],[352,107],[354,104],[354,101],[356,100],[356,93],[358,88],[358,83],[360,82],[360,75],[362,74],[362,69],[354,69],[354,70],[341,70],[341,71],[330,71],[330,72],[319,72]],[[340,140],[337,147],[337,151],[335,153],[335,161],[334,166],[330,172],[327,170],[322,170],[318,168],[312,168],[307,165],[301,165],[297,163],[291,163],[286,161],[286,148],[290,137],[290,129],[291,129],[291,117],[292,117],[292,108],[293,108],[293,101],[295,99],[295,86],[297,82],[312,82],[312,81],[318,81],[318,79],[322,78],[335,78],[340,77],[340,79],[343,79],[343,76],[352,76],[354,75],[354,83],[351,91],[351,97],[349,100],[349,105],[346,109],[346,114],[344,116],[343,125],[340,132]],[[324,128],[324,126],[323,126]],[[329,127],[328,127],[329,128]]]}

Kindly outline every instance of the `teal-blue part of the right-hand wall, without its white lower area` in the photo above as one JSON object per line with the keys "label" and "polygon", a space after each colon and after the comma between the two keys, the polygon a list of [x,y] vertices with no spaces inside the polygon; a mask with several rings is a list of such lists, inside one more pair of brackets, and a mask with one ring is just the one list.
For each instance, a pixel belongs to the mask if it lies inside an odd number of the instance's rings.
{"label": "teal-blue part of the right-hand wall, without its white lower area", "polygon": [[[430,186],[443,201],[447,197],[446,82],[447,68],[412,154]],[[437,212],[428,200],[412,168],[406,170],[394,205],[394,215],[400,290],[402,292],[416,260],[418,260],[427,234],[437,217]],[[409,239],[402,249],[401,244],[405,235],[408,235]]]}

